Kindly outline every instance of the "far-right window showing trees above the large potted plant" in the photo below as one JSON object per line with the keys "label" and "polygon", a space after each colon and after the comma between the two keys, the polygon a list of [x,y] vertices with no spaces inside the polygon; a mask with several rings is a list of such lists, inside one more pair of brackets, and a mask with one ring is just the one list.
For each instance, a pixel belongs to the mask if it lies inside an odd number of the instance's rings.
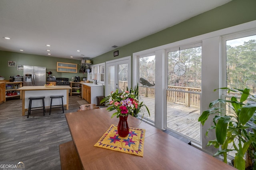
{"label": "far-right window showing trees above the large potted plant", "polygon": [[256,93],[256,35],[226,40],[226,86]]}

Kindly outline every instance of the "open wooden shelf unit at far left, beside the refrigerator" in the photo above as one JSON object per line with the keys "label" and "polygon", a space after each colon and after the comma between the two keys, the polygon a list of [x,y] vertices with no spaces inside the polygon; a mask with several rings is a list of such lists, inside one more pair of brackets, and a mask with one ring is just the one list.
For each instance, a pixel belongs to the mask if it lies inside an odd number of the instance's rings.
{"label": "open wooden shelf unit at far left, beside the refrigerator", "polygon": [[20,96],[20,99],[22,99],[22,91],[18,90],[20,87],[22,87],[22,82],[6,82],[5,98]]}

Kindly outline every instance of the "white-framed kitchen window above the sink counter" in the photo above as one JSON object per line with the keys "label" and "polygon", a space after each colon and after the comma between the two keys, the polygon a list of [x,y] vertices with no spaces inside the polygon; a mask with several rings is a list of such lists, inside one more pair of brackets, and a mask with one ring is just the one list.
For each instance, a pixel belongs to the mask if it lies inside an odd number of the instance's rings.
{"label": "white-framed kitchen window above the sink counter", "polygon": [[88,80],[97,79],[98,83],[105,82],[105,63],[92,65],[92,73],[88,73]]}

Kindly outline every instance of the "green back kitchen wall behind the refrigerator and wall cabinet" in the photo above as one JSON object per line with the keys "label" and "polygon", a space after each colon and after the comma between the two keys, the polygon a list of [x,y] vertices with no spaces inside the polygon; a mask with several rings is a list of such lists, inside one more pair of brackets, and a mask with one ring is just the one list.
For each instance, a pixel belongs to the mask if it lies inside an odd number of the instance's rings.
{"label": "green back kitchen wall behind the refrigerator and wall cabinet", "polygon": [[[8,67],[8,61],[16,61],[16,67]],[[57,72],[57,61],[64,62],[64,63],[75,63],[78,64],[78,73],[62,73]],[[58,58],[58,57],[48,57],[42,55],[31,55],[31,54],[24,54],[24,53],[15,53],[9,51],[0,51],[0,75],[5,77],[5,80],[9,80],[10,76],[20,75],[23,76],[23,71],[17,70],[17,65],[33,65],[33,66],[41,66],[46,67],[46,71],[52,71],[52,76],[55,77],[65,77],[69,78],[70,81],[72,77],[80,76],[87,77],[87,73],[79,73],[80,69],[80,60],[75,59],[65,59],[65,58]],[[48,74],[46,73],[46,77]]]}

